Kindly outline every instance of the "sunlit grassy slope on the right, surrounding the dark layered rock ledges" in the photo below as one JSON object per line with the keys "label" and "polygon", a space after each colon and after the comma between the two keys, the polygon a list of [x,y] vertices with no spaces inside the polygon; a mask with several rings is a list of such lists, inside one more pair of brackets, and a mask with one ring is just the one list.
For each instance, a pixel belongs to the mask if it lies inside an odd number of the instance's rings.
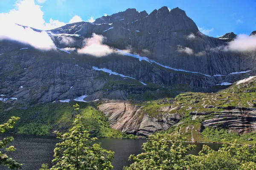
{"label": "sunlit grassy slope on the right, surrounding the dark layered rock ledges", "polygon": [[[151,93],[153,95],[153,93]],[[154,96],[156,97],[156,96]],[[168,101],[168,102],[165,102]],[[188,141],[191,141],[192,135],[195,141],[201,142],[221,142],[224,138],[227,141],[234,141],[238,139],[240,143],[253,143],[248,141],[248,138],[256,140],[256,133],[248,133],[239,136],[236,133],[227,133],[225,129],[206,128],[202,133],[199,133],[201,122],[207,119],[212,119],[212,113],[206,116],[201,116],[192,120],[191,112],[210,112],[221,111],[215,107],[239,106],[239,107],[254,107],[256,108],[256,79],[254,81],[242,83],[239,85],[232,85],[225,90],[217,93],[193,93],[186,92],[177,95],[173,98],[150,100],[146,102],[137,103],[136,105],[144,106],[145,112],[150,116],[156,117],[157,109],[162,106],[172,105],[173,108],[178,107],[178,110],[173,110],[170,113],[183,114],[184,118],[175,126],[171,127],[169,133],[176,133],[177,131],[183,133]],[[204,105],[213,105],[214,108],[204,108]],[[254,106],[253,106],[254,105]],[[194,126],[194,128],[192,128]]]}

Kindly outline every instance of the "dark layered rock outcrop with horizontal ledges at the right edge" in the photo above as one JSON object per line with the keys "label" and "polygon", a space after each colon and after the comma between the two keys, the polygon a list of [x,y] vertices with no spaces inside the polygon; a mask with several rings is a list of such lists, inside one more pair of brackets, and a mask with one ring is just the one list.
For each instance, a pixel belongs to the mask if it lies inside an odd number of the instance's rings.
{"label": "dark layered rock outcrop with horizontal ledges at the right edge", "polygon": [[[227,107],[224,111],[215,112],[214,118],[205,120],[201,124],[201,130],[205,127],[226,128],[230,133],[250,133],[256,131],[256,109]],[[211,112],[213,113],[213,112]],[[208,115],[205,113],[190,113],[191,115]]]}

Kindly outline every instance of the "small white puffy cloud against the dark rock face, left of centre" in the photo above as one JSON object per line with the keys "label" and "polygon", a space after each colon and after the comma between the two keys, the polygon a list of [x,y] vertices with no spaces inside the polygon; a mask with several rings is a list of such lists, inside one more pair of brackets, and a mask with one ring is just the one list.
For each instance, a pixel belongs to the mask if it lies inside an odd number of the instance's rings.
{"label": "small white puffy cloud against the dark rock face, left of centre", "polygon": [[104,39],[105,37],[102,35],[93,33],[91,38],[86,38],[84,40],[85,46],[77,50],[77,52],[80,54],[90,54],[96,57],[102,57],[113,53],[112,48],[103,44]]}

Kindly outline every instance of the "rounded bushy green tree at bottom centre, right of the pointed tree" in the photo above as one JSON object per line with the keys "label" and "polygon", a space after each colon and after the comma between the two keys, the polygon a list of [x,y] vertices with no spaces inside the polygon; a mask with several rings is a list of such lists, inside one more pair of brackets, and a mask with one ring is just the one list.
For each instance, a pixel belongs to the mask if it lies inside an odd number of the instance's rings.
{"label": "rounded bushy green tree at bottom centre, right of the pointed tree", "polygon": [[143,144],[144,153],[131,155],[135,162],[124,170],[189,170],[187,153],[195,145],[186,144],[180,134],[157,133]]}

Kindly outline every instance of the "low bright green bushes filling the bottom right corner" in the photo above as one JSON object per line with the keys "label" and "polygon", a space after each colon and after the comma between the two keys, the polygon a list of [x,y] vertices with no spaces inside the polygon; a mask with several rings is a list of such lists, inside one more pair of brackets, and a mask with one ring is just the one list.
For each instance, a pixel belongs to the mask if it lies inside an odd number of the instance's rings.
{"label": "low bright green bushes filling the bottom right corner", "polygon": [[256,170],[256,144],[249,150],[235,141],[224,144],[218,151],[204,145],[198,156],[189,155],[191,169],[195,170]]}

